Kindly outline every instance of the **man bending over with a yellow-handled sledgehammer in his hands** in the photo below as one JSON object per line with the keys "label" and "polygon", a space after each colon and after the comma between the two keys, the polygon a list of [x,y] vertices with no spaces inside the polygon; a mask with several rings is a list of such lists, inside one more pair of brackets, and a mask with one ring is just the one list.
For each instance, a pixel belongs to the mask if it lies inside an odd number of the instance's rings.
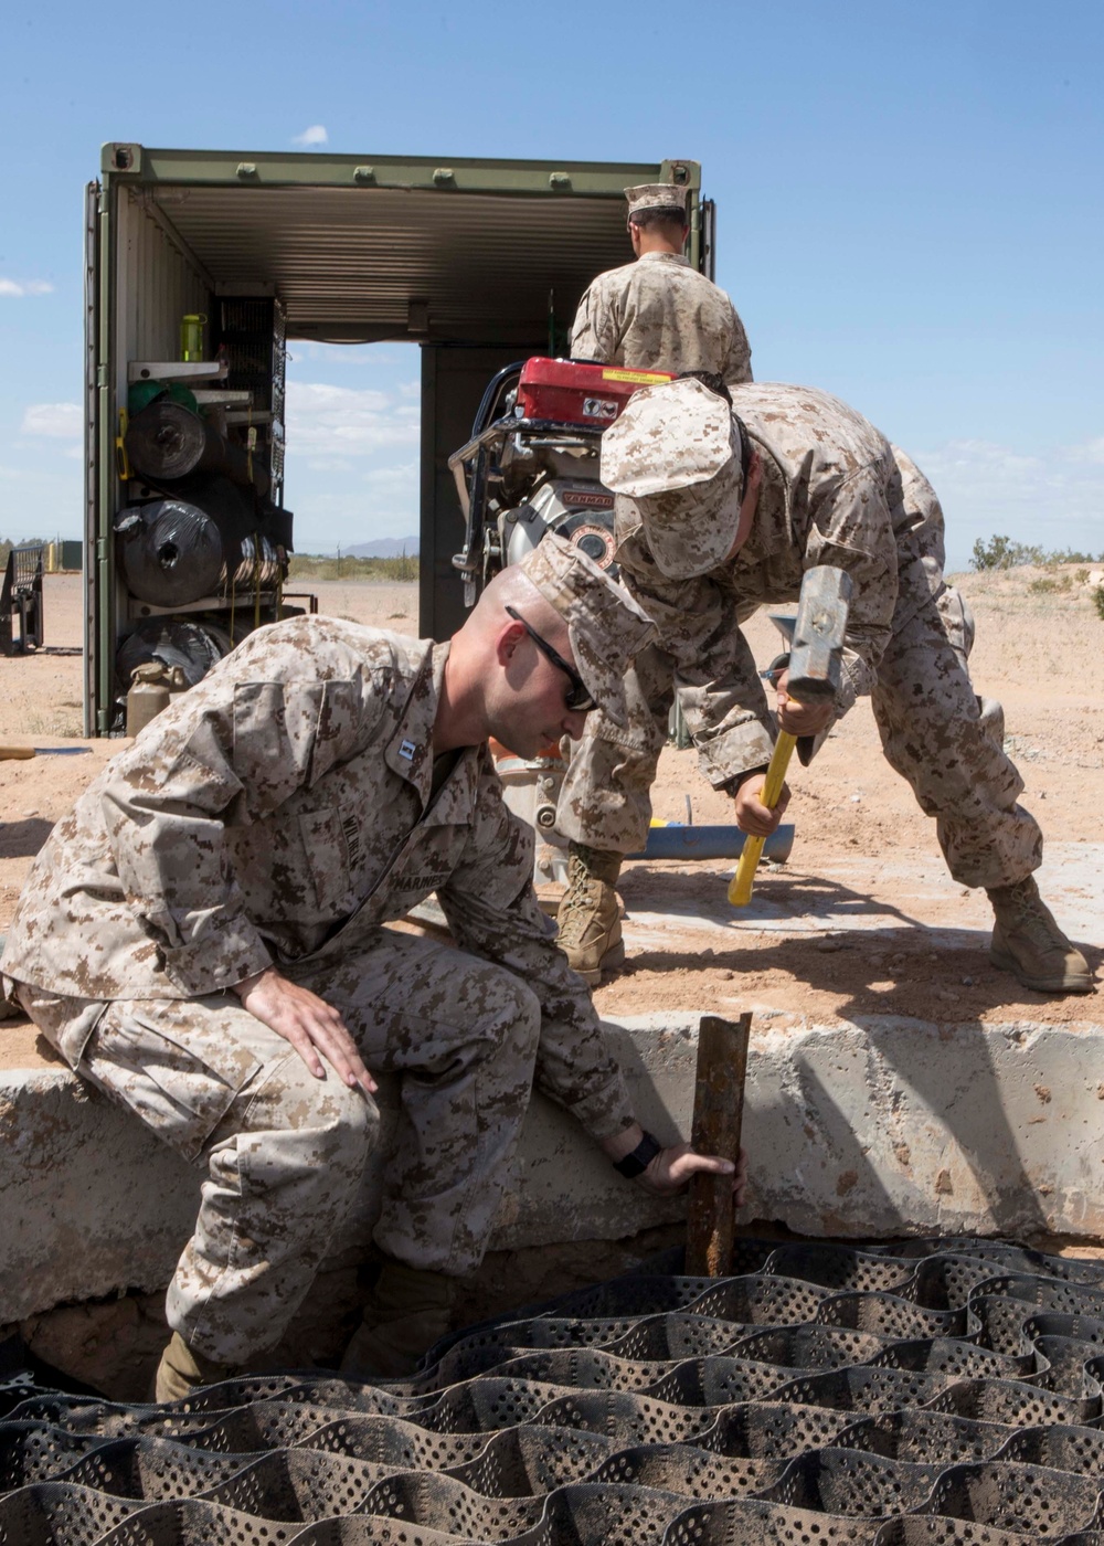
{"label": "man bending over with a yellow-handled sledgehammer in his hands", "polygon": [[[1090,991],[1084,957],[1039,898],[1042,836],[1017,804],[1000,705],[969,680],[973,618],[943,578],[943,513],[914,462],[827,393],[744,385],[730,408],[682,380],[632,397],[603,436],[601,479],[617,493],[622,577],[659,645],[629,673],[628,725],[591,717],[560,796],[572,965],[594,983],[623,959],[612,887],[622,855],[646,841],[673,683],[704,773],[762,836],[789,799],[772,812],[758,798],[776,725],[823,736],[869,693],[886,758],[935,818],[948,869],[993,901],[994,965],[1028,988]],[[854,581],[840,691],[796,705],[782,677],[775,717],[741,623],[764,601],[795,601],[815,564]],[[799,742],[804,761],[813,750]]]}

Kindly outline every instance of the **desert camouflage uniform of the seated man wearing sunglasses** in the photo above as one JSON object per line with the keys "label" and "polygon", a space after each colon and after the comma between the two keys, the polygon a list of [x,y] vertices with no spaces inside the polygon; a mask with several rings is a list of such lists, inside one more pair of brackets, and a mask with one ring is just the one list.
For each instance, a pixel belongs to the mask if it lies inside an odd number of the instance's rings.
{"label": "desert camouflage uniform of the seated man wearing sunglasses", "polygon": [[[226,1364],[278,1340],[377,1132],[233,983],[275,963],[404,1076],[377,1240],[411,1266],[479,1262],[533,1082],[595,1138],[632,1122],[486,747],[433,767],[445,656],[329,618],[260,629],[59,822],[8,938],[71,1067],[206,1166],[167,1309]],[[383,928],[433,890],[459,949]]]}

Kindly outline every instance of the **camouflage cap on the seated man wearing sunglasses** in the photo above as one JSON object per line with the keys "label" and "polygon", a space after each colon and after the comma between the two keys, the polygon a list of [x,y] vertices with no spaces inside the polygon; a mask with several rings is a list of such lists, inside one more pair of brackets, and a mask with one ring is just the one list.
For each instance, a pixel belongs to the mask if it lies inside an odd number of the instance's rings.
{"label": "camouflage cap on the seated man wearing sunglasses", "polygon": [[628,724],[625,673],[656,625],[625,586],[563,536],[547,532],[520,566],[567,623],[575,669],[615,725]]}

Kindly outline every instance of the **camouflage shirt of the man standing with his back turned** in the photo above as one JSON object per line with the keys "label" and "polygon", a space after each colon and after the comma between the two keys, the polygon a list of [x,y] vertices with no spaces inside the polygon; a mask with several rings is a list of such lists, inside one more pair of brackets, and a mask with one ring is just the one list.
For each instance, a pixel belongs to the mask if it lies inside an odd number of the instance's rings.
{"label": "camouflage shirt of the man standing with his back turned", "polygon": [[645,252],[600,274],[571,329],[575,359],[626,369],[713,371],[751,380],[744,323],[725,292],[673,252]]}

